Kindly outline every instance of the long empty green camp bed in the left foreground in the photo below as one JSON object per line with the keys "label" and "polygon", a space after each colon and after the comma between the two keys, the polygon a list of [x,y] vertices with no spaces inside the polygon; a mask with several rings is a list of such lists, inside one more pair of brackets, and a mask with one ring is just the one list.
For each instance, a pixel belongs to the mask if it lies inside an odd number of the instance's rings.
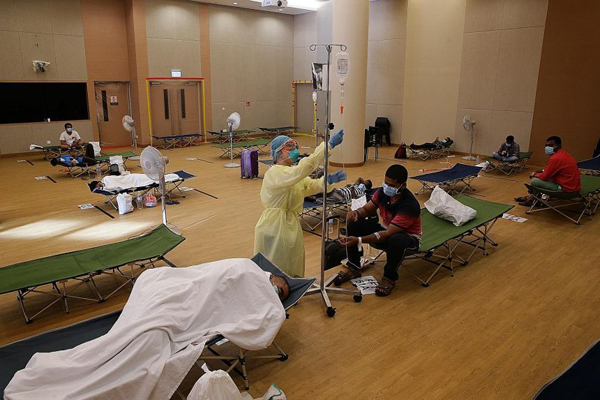
{"label": "long empty green camp bed in the left foreground", "polygon": [[[165,255],[184,240],[184,237],[173,233],[165,225],[160,225],[150,233],[122,242],[9,265],[0,268],[0,294],[17,292],[17,300],[27,323],[60,301],[64,303],[65,311],[69,312],[69,298],[102,302],[127,284],[133,285],[134,264],[144,268],[154,267],[156,262],[164,261],[175,268]],[[120,268],[125,265],[129,265],[130,275],[121,271]],[[94,282],[94,277],[102,274],[125,281],[110,294],[102,296]],[[68,280],[78,283],[67,288]],[[94,293],[95,298],[71,294],[84,284]],[[50,290],[39,289],[42,286],[50,286]],[[25,309],[25,297],[31,293],[45,294],[54,297],[54,300],[30,317]]]}

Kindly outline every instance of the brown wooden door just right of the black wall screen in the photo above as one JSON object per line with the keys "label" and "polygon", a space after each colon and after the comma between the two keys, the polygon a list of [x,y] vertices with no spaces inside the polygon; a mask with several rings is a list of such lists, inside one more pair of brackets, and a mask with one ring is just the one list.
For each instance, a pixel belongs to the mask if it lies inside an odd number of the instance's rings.
{"label": "brown wooden door just right of the black wall screen", "polygon": [[96,116],[100,142],[104,146],[129,146],[131,134],[123,128],[123,117],[130,114],[129,82],[96,82]]}

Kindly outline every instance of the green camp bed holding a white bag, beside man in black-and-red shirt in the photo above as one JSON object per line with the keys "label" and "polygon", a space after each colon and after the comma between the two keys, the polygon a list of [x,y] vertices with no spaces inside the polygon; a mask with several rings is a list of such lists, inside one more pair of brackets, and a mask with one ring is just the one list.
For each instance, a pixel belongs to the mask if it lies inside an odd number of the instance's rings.
{"label": "green camp bed holding a white bag, beside man in black-and-red shirt", "polygon": [[[494,203],[463,194],[455,196],[455,199],[477,210],[475,219],[463,226],[454,226],[451,222],[431,214],[426,208],[421,209],[421,228],[423,230],[421,245],[418,251],[407,251],[402,267],[410,272],[424,287],[429,286],[431,279],[441,268],[449,270],[451,275],[454,276],[455,264],[467,265],[477,249],[480,249],[482,254],[487,256],[488,242],[492,246],[498,246],[498,243],[490,238],[490,231],[498,218],[502,218],[504,213],[514,207],[510,204]],[[466,257],[458,254],[459,245],[472,247]],[[378,248],[377,245],[371,246]],[[381,254],[383,252],[368,260],[367,264],[377,262]],[[435,269],[427,279],[422,279],[406,265],[406,262],[411,259],[420,259],[432,263]]]}

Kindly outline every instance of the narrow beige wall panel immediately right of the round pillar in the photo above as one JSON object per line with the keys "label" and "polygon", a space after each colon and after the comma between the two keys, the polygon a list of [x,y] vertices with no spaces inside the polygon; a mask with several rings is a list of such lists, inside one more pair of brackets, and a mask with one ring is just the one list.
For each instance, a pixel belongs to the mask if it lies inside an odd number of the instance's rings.
{"label": "narrow beige wall panel immediately right of the round pillar", "polygon": [[369,9],[366,124],[387,117],[392,143],[402,141],[408,0],[379,0]]}

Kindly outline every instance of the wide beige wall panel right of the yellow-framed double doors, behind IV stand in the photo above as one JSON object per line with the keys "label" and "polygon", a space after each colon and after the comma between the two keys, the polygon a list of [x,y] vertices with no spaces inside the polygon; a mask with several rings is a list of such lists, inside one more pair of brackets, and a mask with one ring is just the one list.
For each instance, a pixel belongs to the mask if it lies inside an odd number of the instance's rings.
{"label": "wide beige wall panel right of the yellow-framed double doors, behind IV stand", "polygon": [[292,16],[211,5],[210,49],[213,129],[233,111],[244,129],[292,123]]}

